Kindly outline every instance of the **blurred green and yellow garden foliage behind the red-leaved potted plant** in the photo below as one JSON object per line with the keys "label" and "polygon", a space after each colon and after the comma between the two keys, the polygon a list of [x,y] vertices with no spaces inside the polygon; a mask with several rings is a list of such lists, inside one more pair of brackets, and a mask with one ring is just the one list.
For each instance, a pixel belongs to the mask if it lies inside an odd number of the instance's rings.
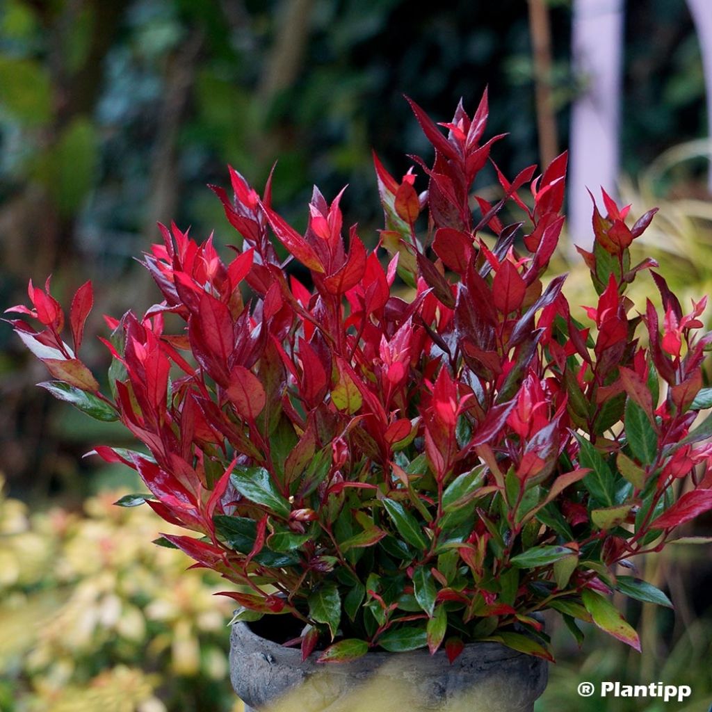
{"label": "blurred green and yellow garden foliage behind the red-leaved potted plant", "polygon": [[[570,69],[570,1],[547,6],[543,80],[562,149],[584,79]],[[236,239],[205,187],[226,184],[228,163],[261,188],[278,158],[274,201],[297,226],[312,184],[327,197],[349,184],[346,221],[375,244],[370,150],[394,174],[409,168],[405,152],[426,152],[403,93],[449,120],[488,84],[488,131],[510,134],[498,164],[513,174],[536,162],[531,46],[525,0],[1,0],[0,303],[52,273],[64,298],[95,281],[89,331],[102,313],[150,305],[155,290],[133,256],[157,239],[157,220]],[[624,57],[620,189],[635,215],[662,208],[638,248],[686,295],[709,293],[704,85],[684,0],[627,3]],[[558,259],[572,304],[591,303],[587,270],[567,246]],[[107,365],[100,345],[86,348]],[[179,553],[148,544],[157,518],[110,506],[136,483],[80,456],[125,436],[50,402],[33,386],[44,378],[0,325],[0,469],[14,497],[0,503],[0,710],[230,710],[229,606],[210,596],[214,581],[182,572]],[[595,635],[581,653],[562,640],[565,663],[540,709],[582,709],[575,686],[590,671],[696,675],[701,704],[712,694],[711,673],[693,664],[710,654],[708,560],[678,548],[661,562],[655,576],[679,610],[631,611],[644,656]]]}

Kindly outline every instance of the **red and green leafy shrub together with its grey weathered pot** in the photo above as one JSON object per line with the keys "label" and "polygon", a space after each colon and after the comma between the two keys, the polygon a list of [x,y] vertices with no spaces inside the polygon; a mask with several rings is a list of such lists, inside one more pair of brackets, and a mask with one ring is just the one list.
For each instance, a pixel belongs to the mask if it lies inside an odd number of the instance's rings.
{"label": "red and green leafy shrub together with its grey weathered pot", "polygon": [[[594,202],[580,253],[597,302],[577,320],[565,275],[547,275],[566,156],[537,178],[493,164],[491,204],[471,194],[501,139],[483,140],[486,95],[446,135],[412,108],[435,150],[414,157],[427,190],[375,157],[372,250],[356,226],[345,241],[340,196],[315,189],[300,234],[270,182],[260,197],[233,169],[234,199],[213,187],[241,236],[229,263],[161,226],[144,258],[161,303],[106,318],[108,391],[79,356],[89,283],[73,345],[49,283],[9,310],[41,324],[11,321],[51,372],[41,385],[145,446],[94,451],[150,492],[119,504],[189,530],[157,543],[230,582],[233,683],[252,706],[301,684],[301,706],[336,709],[379,670],[426,708],[475,685],[469,708],[530,710],[553,659],[540,612],[579,642],[592,621],[639,649],[608,595],[669,605],[630,560],[712,508],[706,299],[686,313],[654,261],[630,260],[655,210],[629,226],[628,207]],[[639,273],[662,313],[632,308]]]}

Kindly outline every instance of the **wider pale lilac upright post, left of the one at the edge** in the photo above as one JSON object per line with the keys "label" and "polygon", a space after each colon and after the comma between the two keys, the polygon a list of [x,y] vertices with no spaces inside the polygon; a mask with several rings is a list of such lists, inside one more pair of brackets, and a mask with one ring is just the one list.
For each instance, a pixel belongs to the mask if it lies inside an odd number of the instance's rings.
{"label": "wider pale lilac upright post, left of the one at the edge", "polygon": [[623,0],[575,0],[572,32],[574,70],[585,88],[571,119],[569,233],[587,248],[592,205],[586,189],[598,199],[600,186],[614,194],[618,182]]}

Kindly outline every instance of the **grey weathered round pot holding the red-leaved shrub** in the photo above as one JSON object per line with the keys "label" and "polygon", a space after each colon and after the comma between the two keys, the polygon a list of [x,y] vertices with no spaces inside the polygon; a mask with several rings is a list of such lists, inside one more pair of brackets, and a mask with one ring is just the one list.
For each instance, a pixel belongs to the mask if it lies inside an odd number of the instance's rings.
{"label": "grey weathered round pot holding the red-leaved shrub", "polygon": [[232,628],[230,678],[246,712],[532,712],[545,661],[498,643],[473,643],[450,664],[444,651],[375,651],[342,664],[301,661],[298,649]]}

